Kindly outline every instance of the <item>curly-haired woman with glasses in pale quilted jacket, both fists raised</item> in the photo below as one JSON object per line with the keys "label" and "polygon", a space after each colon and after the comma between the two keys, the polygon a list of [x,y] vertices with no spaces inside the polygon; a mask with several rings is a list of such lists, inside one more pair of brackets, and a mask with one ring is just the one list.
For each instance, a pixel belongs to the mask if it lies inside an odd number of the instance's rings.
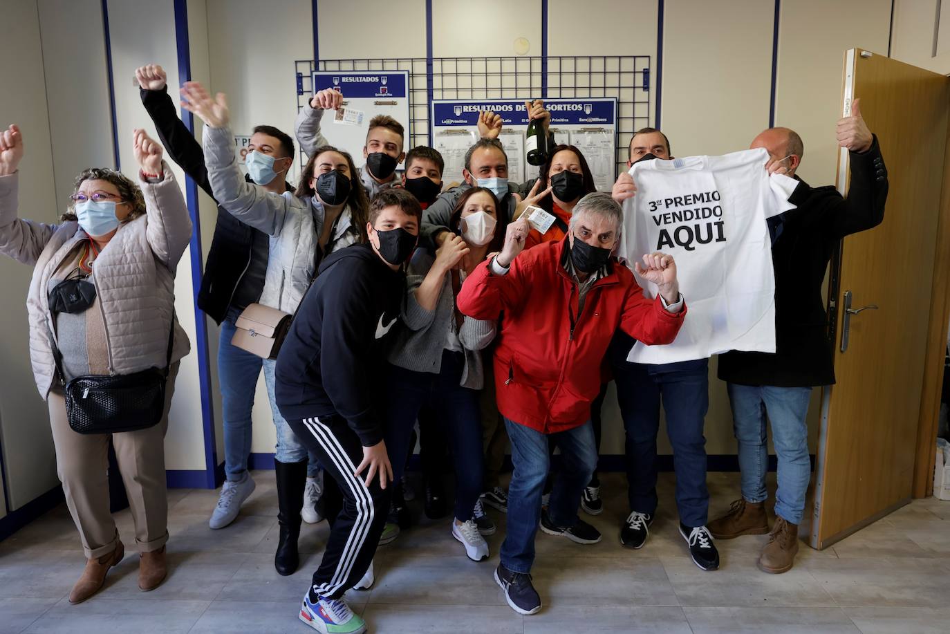
{"label": "curly-haired woman with glasses in pale quilted jacket, both fists raised", "polygon": [[[105,167],[85,169],[58,223],[20,220],[17,166],[23,151],[16,125],[0,131],[0,253],[33,267],[27,298],[30,359],[36,386],[47,399],[56,467],[86,557],[69,603],[95,594],[109,567],[123,559],[109,513],[110,439],[135,524],[139,587],[151,590],[166,574],[163,439],[179,361],[189,350],[174,316],[175,268],[191,237],[188,209],[161,160],[161,145],[136,130],[138,183]],[[131,432],[73,430],[75,419],[66,413],[69,381],[151,368],[166,376],[157,424]]]}

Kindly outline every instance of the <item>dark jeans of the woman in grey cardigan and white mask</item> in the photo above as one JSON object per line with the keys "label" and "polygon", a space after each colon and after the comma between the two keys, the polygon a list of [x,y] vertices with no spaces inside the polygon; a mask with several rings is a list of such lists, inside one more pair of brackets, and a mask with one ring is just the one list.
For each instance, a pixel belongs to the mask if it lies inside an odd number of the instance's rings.
{"label": "dark jeans of the woman in grey cardigan and white mask", "polygon": [[[479,392],[459,385],[465,370],[462,353],[444,350],[438,375],[389,366],[386,381],[386,449],[398,482],[412,449],[412,426],[424,406],[437,417],[452,451],[455,467],[455,518],[472,519],[482,492],[482,415]],[[431,433],[431,430],[420,433]],[[431,438],[430,438],[431,439]]]}

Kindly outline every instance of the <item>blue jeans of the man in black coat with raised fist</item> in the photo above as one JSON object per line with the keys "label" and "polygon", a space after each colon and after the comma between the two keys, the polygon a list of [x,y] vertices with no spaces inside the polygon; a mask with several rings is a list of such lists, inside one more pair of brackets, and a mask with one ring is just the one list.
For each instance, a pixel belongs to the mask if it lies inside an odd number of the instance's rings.
{"label": "blue jeans of the man in black coat with raised fist", "polygon": [[224,473],[228,480],[240,480],[247,472],[251,453],[251,410],[263,359],[231,345],[235,317],[221,322],[218,338],[218,379],[224,415]]}

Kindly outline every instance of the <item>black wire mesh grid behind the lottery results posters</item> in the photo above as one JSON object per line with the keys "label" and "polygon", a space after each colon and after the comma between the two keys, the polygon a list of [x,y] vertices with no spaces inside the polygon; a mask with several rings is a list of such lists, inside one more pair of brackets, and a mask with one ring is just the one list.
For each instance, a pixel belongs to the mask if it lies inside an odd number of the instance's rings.
{"label": "black wire mesh grid behind the lottery results posters", "polygon": [[[546,64],[545,64],[546,62]],[[431,65],[432,86],[428,87]],[[409,147],[428,145],[429,99],[616,97],[617,167],[634,132],[653,121],[650,56],[425,57],[295,62],[297,109],[313,96],[314,70],[408,70]],[[546,80],[546,86],[545,86]],[[302,157],[306,160],[306,157]]]}

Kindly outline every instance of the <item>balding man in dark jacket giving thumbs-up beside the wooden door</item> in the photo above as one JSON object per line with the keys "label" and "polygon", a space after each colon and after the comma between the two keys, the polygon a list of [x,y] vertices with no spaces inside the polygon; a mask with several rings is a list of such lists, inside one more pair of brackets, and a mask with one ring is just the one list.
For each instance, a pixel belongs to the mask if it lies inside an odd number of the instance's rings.
{"label": "balding man in dark jacket giving thumbs-up beside the wooden door", "polygon": [[787,172],[799,181],[788,199],[797,208],[769,220],[775,269],[775,353],[733,351],[719,355],[719,378],[729,382],[742,497],[709,528],[717,539],[769,532],[764,506],[768,497],[768,414],[778,454],[778,491],[777,519],[759,559],[759,567],[766,572],[785,572],[794,564],[811,476],[808,401],[813,386],[835,381],[822,298],[828,260],[845,236],[883,221],[887,199],[881,147],[864,124],[857,99],[851,116],[838,122],[838,144],[850,151],[851,183],[846,199],[833,186],[813,188],[794,176],[804,153],[802,140],[794,131],[770,128],[751,144],[769,150],[770,172]]}

